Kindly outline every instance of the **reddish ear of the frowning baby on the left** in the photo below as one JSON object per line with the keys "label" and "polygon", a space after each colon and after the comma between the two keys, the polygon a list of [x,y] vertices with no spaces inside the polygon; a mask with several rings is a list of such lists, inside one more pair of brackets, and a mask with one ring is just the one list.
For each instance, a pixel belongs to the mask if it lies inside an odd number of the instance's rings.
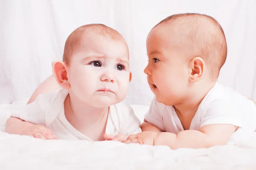
{"label": "reddish ear of the frowning baby on the left", "polygon": [[67,77],[67,71],[67,63],[62,61],[52,62],[52,72],[55,75],[58,84],[64,89],[70,88],[70,83]]}

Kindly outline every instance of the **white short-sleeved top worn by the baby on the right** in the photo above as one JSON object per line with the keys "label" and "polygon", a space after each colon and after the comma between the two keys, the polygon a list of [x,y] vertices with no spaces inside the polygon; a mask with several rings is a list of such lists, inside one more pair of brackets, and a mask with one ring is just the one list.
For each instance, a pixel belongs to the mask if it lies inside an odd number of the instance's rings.
{"label": "white short-sleeved top worn by the baby on the right", "polygon": [[[177,134],[184,130],[174,107],[157,102],[155,97],[145,119],[166,132]],[[239,127],[228,144],[241,143],[250,139],[256,130],[256,106],[231,88],[216,83],[200,103],[189,129],[198,130],[212,124]]]}

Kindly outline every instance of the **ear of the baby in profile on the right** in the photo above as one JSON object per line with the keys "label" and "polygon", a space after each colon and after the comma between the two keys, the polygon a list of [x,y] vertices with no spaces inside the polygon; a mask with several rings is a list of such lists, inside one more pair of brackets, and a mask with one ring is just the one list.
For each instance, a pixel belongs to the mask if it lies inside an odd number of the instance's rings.
{"label": "ear of the baby in profile on the right", "polygon": [[202,78],[204,73],[204,59],[201,57],[195,57],[189,63],[189,81],[197,82]]}

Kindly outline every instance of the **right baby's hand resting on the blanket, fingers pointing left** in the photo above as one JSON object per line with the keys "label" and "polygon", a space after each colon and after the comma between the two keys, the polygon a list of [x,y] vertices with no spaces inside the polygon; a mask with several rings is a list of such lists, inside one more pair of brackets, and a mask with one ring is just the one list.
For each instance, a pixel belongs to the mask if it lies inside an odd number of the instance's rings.
{"label": "right baby's hand resting on the blanket, fingers pointing left", "polygon": [[152,131],[145,131],[138,134],[130,135],[127,140],[124,142],[126,144],[130,143],[139,143],[139,144],[147,144],[154,145],[154,139],[158,133]]}

